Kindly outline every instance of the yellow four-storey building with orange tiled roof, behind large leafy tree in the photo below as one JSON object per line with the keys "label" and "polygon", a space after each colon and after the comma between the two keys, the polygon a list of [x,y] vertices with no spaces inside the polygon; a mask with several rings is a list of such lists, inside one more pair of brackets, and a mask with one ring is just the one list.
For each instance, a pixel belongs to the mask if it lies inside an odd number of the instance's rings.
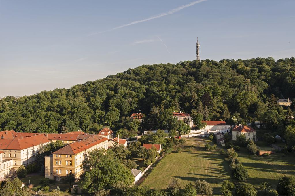
{"label": "yellow four-storey building with orange tiled roof, behind large leafy tree", "polygon": [[79,177],[84,160],[84,152],[94,149],[108,149],[108,139],[94,135],[73,142],[45,157],[45,177],[60,181],[63,176],[75,173]]}

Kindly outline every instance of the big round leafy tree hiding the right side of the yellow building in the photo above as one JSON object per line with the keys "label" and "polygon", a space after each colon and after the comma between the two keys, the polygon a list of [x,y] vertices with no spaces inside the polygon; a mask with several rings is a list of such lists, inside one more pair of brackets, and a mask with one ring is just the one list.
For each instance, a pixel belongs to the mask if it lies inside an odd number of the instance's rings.
{"label": "big round leafy tree hiding the right side of the yellow building", "polygon": [[84,172],[80,177],[81,188],[89,193],[108,190],[116,182],[131,185],[134,181],[130,169],[118,159],[114,159],[113,153],[104,149],[94,149],[84,154],[82,169]]}

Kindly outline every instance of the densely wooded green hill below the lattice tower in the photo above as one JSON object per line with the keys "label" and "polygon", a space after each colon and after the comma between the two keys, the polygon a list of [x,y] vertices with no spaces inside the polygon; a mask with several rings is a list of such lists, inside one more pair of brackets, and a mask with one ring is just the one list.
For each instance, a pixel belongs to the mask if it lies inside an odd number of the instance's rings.
{"label": "densely wooded green hill below the lattice tower", "polygon": [[[280,113],[276,97],[295,97],[294,57],[142,65],[70,89],[6,97],[0,101],[0,128],[43,133],[102,126],[165,129],[171,112],[179,110],[194,110],[204,120],[249,122],[269,110]],[[145,122],[132,124],[129,116],[139,110]]]}

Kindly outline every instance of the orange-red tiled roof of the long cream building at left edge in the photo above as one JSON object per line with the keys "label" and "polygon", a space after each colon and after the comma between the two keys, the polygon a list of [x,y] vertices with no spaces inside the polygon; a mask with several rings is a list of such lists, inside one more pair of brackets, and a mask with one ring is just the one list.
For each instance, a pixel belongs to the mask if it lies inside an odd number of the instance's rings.
{"label": "orange-red tiled roof of the long cream building at left edge", "polygon": [[45,134],[24,137],[22,139],[0,139],[0,149],[22,150],[50,142]]}

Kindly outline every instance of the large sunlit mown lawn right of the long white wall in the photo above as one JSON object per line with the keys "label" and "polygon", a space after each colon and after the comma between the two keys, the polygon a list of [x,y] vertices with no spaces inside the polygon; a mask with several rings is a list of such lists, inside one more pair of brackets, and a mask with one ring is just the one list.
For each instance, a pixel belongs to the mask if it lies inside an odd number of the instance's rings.
{"label": "large sunlit mown lawn right of the long white wall", "polygon": [[[166,188],[173,178],[180,178],[182,184],[194,182],[197,179],[205,179],[214,187],[214,194],[220,194],[219,189],[222,181],[230,179],[230,168],[224,161],[219,150],[204,151],[207,139],[187,138],[182,146],[182,152],[166,155],[153,169],[143,185],[151,188]],[[191,152],[190,147],[198,146]],[[179,147],[179,146],[178,146]]]}

